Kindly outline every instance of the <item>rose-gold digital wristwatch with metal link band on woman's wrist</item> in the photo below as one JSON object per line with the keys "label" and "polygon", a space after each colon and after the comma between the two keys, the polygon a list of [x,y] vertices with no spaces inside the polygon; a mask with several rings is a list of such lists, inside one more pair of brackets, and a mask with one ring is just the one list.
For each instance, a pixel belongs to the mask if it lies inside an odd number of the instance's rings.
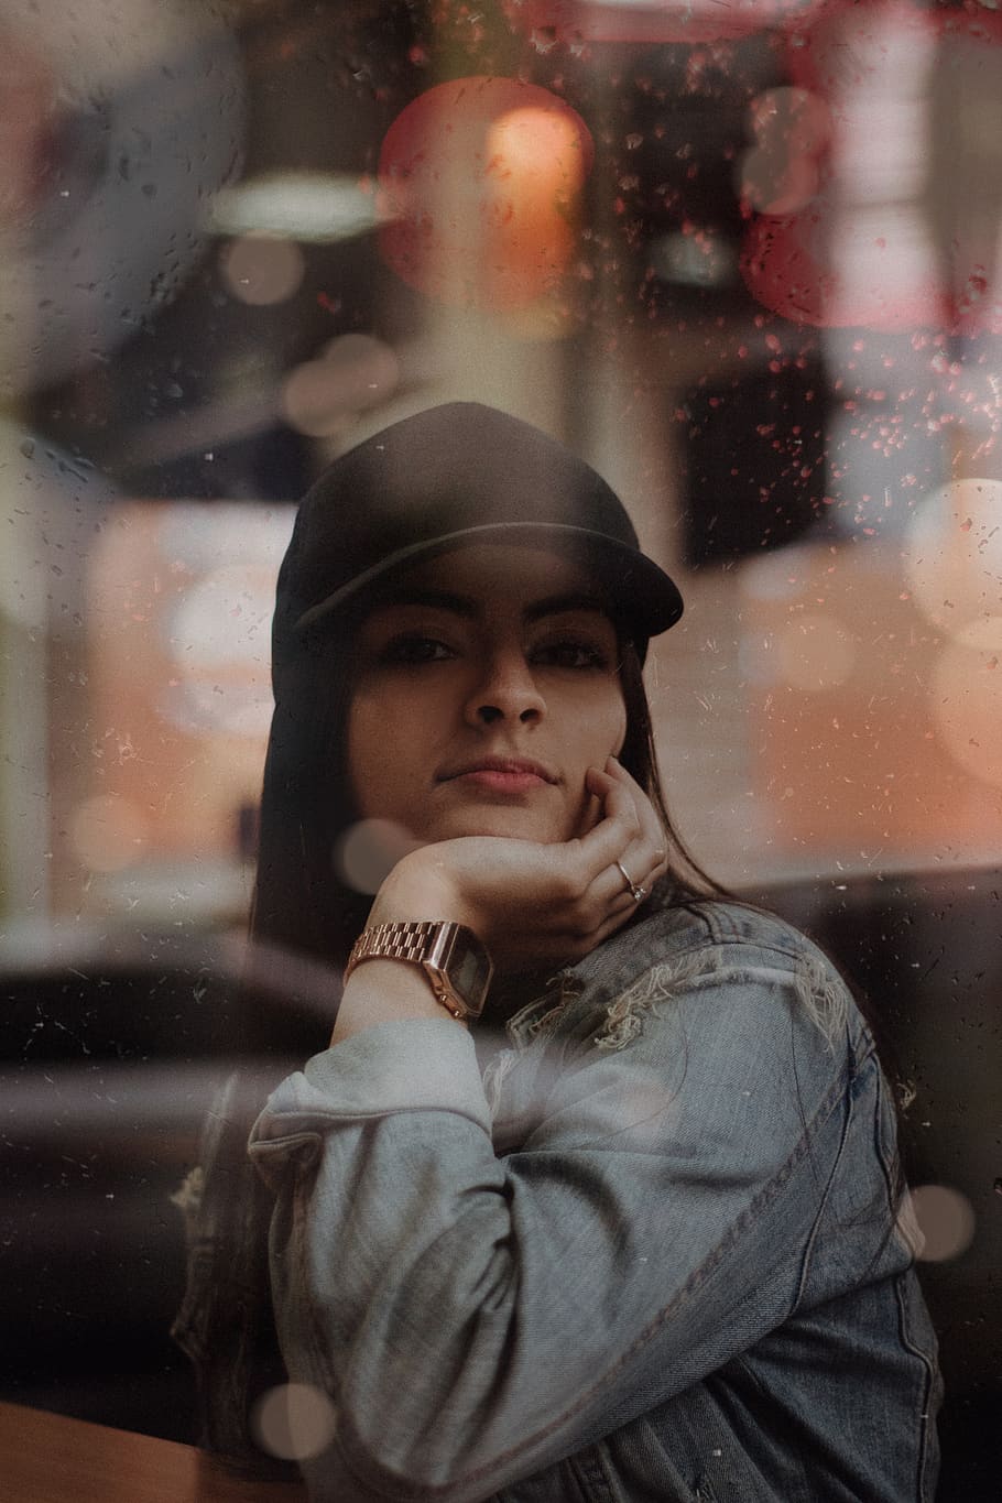
{"label": "rose-gold digital wristwatch with metal link band on woman's wrist", "polygon": [[481,1016],[494,974],[487,947],[472,929],[451,918],[364,929],[344,968],[346,981],[362,960],[409,960],[419,965],[431,981],[431,990],[454,1018]]}

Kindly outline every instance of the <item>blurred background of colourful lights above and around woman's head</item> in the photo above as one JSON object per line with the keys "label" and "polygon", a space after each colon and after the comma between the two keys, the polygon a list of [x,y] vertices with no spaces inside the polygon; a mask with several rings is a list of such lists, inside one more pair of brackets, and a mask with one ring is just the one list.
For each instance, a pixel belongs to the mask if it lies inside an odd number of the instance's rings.
{"label": "blurred background of colourful lights above and around woman's head", "polygon": [[942,983],[898,1021],[958,1045],[976,1257],[1000,249],[997,0],[3,0],[5,932],[240,930],[296,497],[493,403],[682,585],[649,678],[697,857],[835,914],[874,992],[882,942]]}

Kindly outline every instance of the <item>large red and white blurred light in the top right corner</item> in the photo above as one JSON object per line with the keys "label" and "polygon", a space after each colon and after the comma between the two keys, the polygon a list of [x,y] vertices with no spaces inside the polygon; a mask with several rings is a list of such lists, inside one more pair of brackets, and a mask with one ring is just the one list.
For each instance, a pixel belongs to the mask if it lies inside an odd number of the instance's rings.
{"label": "large red and white blurred light in the top right corner", "polygon": [[814,159],[817,135],[801,149],[790,131],[771,198],[783,143],[772,147],[753,108],[759,144],[742,171],[745,204],[759,210],[742,257],[753,295],[828,328],[1002,329],[1002,17],[834,5],[796,32],[787,60],[793,92],[823,101],[831,140]]}

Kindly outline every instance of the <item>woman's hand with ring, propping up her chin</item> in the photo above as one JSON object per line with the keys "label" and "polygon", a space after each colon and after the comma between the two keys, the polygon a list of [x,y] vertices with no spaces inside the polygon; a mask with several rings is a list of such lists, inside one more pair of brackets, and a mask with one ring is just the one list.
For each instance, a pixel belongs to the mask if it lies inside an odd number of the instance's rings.
{"label": "woman's hand with ring, propping up her chin", "polygon": [[667,870],[665,839],[643,789],[614,759],[589,768],[595,822],[562,845],[463,836],[409,852],[389,873],[370,924],[454,918],[500,971],[587,954],[637,911],[622,863],[650,891]]}

